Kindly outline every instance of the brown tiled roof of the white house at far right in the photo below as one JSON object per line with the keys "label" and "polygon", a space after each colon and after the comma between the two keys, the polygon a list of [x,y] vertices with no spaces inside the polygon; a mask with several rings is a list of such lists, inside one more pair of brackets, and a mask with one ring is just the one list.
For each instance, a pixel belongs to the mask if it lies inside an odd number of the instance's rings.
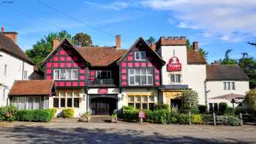
{"label": "brown tiled roof of the white house at far right", "polygon": [[242,69],[235,64],[206,65],[207,80],[249,80]]}

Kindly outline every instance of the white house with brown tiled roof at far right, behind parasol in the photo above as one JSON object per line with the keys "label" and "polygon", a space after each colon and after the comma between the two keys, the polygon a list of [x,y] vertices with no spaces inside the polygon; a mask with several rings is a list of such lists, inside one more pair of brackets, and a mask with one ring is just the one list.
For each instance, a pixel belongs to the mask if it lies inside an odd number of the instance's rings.
{"label": "white house with brown tiled roof at far right, behind parasol", "polygon": [[206,65],[206,96],[208,110],[217,111],[219,102],[228,106],[242,105],[249,91],[249,77],[237,65]]}

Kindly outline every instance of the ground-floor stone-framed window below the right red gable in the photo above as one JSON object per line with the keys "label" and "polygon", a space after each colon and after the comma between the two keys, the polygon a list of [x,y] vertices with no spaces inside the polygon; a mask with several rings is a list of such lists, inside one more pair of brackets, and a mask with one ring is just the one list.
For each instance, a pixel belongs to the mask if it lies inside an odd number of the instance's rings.
{"label": "ground-floor stone-framed window below the right red gable", "polygon": [[139,110],[152,110],[154,107],[154,96],[147,94],[128,95],[128,105]]}

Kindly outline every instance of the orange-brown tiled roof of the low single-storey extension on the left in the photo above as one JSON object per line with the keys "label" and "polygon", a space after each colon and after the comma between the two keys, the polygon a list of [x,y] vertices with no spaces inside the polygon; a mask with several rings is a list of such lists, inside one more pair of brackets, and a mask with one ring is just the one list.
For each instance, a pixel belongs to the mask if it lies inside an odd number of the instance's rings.
{"label": "orange-brown tiled roof of the low single-storey extension on the left", "polygon": [[53,88],[53,80],[16,80],[9,96],[49,95]]}

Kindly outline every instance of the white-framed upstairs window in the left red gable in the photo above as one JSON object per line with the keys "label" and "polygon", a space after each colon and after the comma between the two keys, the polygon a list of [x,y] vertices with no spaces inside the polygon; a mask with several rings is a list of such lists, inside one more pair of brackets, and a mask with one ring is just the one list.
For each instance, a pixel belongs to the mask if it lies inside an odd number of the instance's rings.
{"label": "white-framed upstairs window in the left red gable", "polygon": [[78,80],[78,69],[55,69],[55,80]]}

